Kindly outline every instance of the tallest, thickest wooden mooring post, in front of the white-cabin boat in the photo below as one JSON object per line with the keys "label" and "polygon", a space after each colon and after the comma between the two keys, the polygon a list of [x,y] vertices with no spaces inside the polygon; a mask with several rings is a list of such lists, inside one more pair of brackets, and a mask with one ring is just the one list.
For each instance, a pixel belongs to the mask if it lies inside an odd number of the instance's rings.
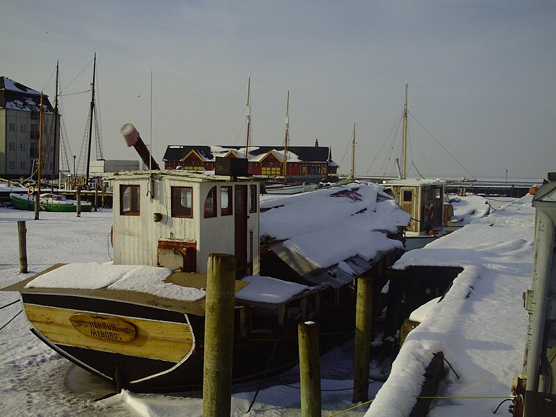
{"label": "tallest, thickest wooden mooring post, in front of the white-cabin boat", "polygon": [[209,254],[204,322],[204,417],[230,415],[235,283],[236,257]]}

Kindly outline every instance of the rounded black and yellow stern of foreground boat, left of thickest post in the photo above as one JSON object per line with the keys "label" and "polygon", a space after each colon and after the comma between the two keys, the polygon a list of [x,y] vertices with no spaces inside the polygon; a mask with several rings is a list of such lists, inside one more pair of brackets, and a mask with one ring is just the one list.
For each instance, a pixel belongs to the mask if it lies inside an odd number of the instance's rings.
{"label": "rounded black and yellow stern of foreground boat, left of thickest post", "polygon": [[[22,294],[22,302],[36,336],[115,386],[156,391],[199,382],[202,356],[192,355],[195,336],[186,314],[68,295]],[[126,340],[115,322],[136,334]]]}

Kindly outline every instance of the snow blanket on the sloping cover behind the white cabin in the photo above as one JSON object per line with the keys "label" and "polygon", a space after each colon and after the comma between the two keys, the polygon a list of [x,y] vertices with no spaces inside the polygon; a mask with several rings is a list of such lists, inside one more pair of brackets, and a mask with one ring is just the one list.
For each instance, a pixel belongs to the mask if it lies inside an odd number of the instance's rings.
{"label": "snow blanket on the sloping cover behind the white cabin", "polygon": [[369,260],[401,248],[399,240],[386,235],[398,233],[409,220],[381,186],[361,182],[264,199],[259,233],[314,268],[327,268],[352,256]]}

